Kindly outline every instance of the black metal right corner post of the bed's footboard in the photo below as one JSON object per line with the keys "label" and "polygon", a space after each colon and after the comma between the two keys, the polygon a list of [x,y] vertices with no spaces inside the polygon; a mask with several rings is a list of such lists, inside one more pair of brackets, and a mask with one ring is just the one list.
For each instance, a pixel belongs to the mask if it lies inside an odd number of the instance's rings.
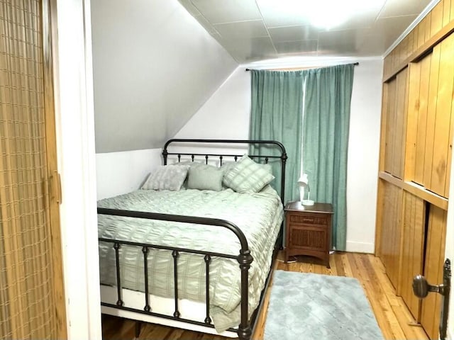
{"label": "black metal right corner post of the bed's footboard", "polygon": [[241,270],[241,322],[238,326],[238,338],[240,340],[250,340],[252,336],[252,329],[250,327],[248,315],[248,275],[250,263],[253,261],[253,256],[250,255],[249,250],[240,250],[238,255],[238,263],[240,263]]}

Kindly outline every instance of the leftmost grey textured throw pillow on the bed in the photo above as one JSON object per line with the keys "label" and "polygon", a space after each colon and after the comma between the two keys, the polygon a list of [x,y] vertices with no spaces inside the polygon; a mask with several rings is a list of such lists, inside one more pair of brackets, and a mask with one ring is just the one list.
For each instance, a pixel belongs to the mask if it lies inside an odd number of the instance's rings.
{"label": "leftmost grey textured throw pillow on the bed", "polygon": [[179,191],[186,179],[188,165],[162,165],[148,176],[143,189]]}

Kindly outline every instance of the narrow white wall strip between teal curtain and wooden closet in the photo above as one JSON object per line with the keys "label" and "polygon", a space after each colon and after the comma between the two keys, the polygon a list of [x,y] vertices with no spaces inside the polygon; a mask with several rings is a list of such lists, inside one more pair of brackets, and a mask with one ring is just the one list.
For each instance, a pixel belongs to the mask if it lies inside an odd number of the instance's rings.
{"label": "narrow white wall strip between teal curtain and wooden closet", "polygon": [[373,253],[377,208],[383,61],[355,67],[347,179],[347,251]]}

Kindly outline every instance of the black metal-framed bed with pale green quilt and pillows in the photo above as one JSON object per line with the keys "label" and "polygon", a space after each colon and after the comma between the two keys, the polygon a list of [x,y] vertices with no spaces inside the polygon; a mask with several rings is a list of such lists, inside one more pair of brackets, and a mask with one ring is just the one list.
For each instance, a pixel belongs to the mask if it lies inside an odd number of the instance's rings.
{"label": "black metal-framed bed with pale green quilt and pillows", "polygon": [[250,339],[282,247],[284,146],[169,140],[162,158],[140,190],[98,202],[101,310]]}

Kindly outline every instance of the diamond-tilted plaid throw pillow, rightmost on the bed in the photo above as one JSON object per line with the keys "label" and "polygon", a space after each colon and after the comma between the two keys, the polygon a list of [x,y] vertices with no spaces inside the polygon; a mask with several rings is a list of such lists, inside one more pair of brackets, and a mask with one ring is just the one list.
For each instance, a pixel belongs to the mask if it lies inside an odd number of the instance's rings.
{"label": "diamond-tilted plaid throw pillow, rightmost on the bed", "polygon": [[224,174],[223,184],[238,193],[258,193],[275,179],[263,165],[244,155]]}

